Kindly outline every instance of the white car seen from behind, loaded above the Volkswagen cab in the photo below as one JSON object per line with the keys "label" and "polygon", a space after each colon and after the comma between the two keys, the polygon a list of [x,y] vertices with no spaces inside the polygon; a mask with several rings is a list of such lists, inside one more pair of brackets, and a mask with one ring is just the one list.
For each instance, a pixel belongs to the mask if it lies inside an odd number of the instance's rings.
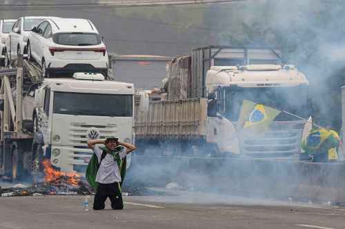
{"label": "white car seen from behind, loaded above the Volkswagen cab", "polygon": [[33,28],[28,58],[43,76],[75,72],[108,74],[108,53],[95,25],[88,19],[50,18]]}

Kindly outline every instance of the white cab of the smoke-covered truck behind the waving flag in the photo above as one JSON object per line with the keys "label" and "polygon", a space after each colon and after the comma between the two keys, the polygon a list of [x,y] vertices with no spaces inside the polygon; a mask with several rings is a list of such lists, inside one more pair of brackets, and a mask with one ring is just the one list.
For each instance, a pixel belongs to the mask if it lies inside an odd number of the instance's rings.
{"label": "white cab of the smoke-covered truck behind the waving flag", "polygon": [[[265,135],[241,136],[237,128],[244,99],[308,118],[308,80],[293,65],[213,66],[206,75],[207,142],[219,151],[257,157],[300,153],[306,122],[280,113]],[[212,102],[213,100],[213,102]]]}

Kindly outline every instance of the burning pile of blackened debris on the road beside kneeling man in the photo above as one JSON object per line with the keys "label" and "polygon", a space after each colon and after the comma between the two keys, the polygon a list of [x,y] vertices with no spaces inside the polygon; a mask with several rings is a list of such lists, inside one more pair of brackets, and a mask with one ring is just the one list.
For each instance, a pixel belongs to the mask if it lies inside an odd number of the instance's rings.
{"label": "burning pile of blackened debris on the road beside kneeling man", "polygon": [[[1,188],[2,197],[27,195],[90,195],[92,187],[81,179],[77,173],[63,173],[55,169],[49,160],[43,161],[44,178],[34,182],[32,186],[17,185]],[[38,177],[38,176],[37,176]]]}

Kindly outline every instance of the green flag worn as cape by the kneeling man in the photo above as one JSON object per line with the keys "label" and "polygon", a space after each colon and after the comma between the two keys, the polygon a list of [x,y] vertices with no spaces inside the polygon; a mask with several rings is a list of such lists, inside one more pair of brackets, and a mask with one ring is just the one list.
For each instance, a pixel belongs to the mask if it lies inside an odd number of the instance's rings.
{"label": "green flag worn as cape by the kneeling man", "polygon": [[[124,157],[122,160],[120,158],[119,153],[124,150],[124,147],[117,146],[114,151],[109,151],[106,147],[99,147],[103,152],[110,153],[112,157],[114,157],[114,160],[117,162],[117,166],[119,166],[119,171],[121,175],[121,183],[120,186],[122,186],[122,183],[124,183],[125,175],[126,175],[126,157]],[[90,162],[88,162],[88,168],[86,168],[86,180],[88,181],[88,184],[92,186],[93,188],[97,188],[98,183],[96,182],[96,176],[99,168],[98,158],[95,153],[92,153],[92,157],[90,159]]]}

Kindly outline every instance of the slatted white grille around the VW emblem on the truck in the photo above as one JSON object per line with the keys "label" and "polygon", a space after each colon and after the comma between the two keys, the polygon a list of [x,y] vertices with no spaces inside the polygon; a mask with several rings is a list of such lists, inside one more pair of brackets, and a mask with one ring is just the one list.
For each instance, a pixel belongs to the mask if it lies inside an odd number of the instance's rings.
{"label": "slatted white grille around the VW emblem on the truck", "polygon": [[71,123],[69,129],[68,141],[73,146],[85,146],[88,142],[88,130],[96,128],[99,130],[99,138],[106,139],[117,135],[117,125],[85,125],[78,123]]}

